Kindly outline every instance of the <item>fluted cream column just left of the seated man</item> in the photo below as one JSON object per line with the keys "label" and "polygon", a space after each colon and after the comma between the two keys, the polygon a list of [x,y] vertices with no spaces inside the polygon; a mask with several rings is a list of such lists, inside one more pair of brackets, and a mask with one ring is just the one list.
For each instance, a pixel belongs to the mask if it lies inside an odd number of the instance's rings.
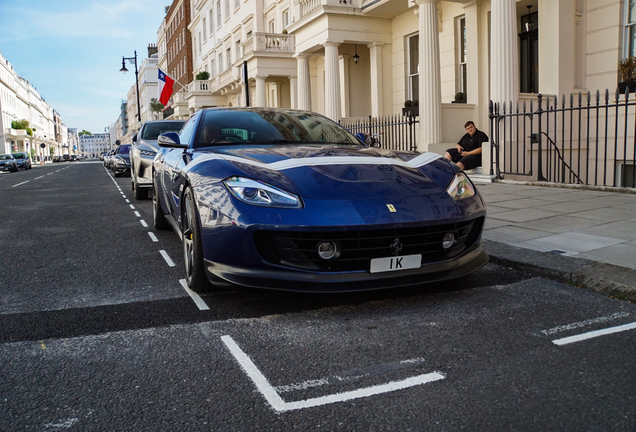
{"label": "fluted cream column just left of the seated man", "polygon": [[[514,1],[514,0],[513,0]],[[420,44],[420,141],[418,151],[442,138],[442,91],[439,61],[437,0],[415,0],[419,6]]]}

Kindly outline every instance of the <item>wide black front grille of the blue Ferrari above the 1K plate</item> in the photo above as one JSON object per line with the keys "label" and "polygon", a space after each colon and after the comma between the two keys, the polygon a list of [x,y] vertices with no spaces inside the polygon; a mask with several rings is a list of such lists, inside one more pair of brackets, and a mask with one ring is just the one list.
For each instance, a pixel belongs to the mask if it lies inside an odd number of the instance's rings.
{"label": "wide black front grille of the blue Ferrari above the 1K plate", "polygon": [[[422,264],[445,261],[460,255],[478,239],[484,223],[480,217],[465,222],[425,225],[409,228],[355,231],[256,231],[254,241],[259,254],[273,264],[303,270],[342,272],[369,270],[374,258],[394,255],[391,245],[399,239],[400,256],[422,255]],[[444,250],[442,238],[447,232],[455,234],[452,248]],[[325,261],[318,256],[318,244],[336,242],[340,256]]]}

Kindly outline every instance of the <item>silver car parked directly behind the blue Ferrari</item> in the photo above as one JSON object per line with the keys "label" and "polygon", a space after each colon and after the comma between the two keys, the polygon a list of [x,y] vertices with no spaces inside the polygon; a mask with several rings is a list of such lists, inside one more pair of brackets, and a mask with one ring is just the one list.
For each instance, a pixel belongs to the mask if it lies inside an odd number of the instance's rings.
{"label": "silver car parked directly behind the blue Ferrari", "polygon": [[183,120],[153,120],[141,125],[130,150],[130,183],[135,199],[148,198],[152,189],[152,161],[159,150],[157,137],[164,132],[179,132]]}

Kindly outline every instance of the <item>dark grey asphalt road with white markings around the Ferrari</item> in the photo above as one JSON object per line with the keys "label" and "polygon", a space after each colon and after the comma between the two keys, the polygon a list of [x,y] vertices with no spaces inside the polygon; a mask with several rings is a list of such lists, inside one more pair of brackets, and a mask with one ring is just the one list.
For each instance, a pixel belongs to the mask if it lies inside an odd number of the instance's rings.
{"label": "dark grey asphalt road with white markings around the Ferrari", "polygon": [[129,178],[47,165],[0,203],[0,431],[636,430],[635,304],[489,264],[201,310]]}

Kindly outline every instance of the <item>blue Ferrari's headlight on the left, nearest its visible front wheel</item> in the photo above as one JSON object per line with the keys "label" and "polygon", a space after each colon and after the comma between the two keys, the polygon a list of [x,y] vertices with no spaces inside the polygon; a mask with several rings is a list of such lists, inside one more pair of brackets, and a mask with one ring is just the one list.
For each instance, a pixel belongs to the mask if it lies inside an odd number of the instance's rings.
{"label": "blue Ferrari's headlight on the left, nearest its visible front wheel", "polygon": [[257,180],[230,177],[223,183],[232,195],[248,204],[283,208],[302,208],[303,206],[300,197]]}

